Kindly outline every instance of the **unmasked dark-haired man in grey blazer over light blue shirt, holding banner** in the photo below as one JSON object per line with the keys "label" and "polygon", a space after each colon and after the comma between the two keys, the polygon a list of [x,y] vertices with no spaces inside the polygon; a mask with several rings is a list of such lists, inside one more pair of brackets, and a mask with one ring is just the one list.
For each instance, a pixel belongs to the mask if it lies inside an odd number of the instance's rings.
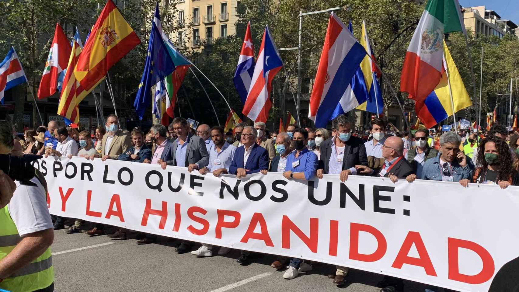
{"label": "unmasked dark-haired man in grey blazer over light blue shirt, holding banner", "polygon": [[162,169],[166,169],[166,165],[175,165],[184,166],[188,172],[192,172],[207,166],[209,153],[202,138],[189,133],[189,124],[184,118],[176,117],[172,124],[177,138],[164,149]]}

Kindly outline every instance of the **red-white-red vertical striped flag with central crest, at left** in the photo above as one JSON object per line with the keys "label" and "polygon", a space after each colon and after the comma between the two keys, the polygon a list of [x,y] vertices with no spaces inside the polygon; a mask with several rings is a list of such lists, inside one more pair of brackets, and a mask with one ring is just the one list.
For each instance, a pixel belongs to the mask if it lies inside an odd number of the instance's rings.
{"label": "red-white-red vertical striped flag with central crest, at left", "polygon": [[39,82],[38,99],[45,99],[56,93],[60,74],[66,69],[71,52],[72,46],[69,40],[59,23],[56,23],[56,31],[54,31],[49,56],[45,63],[42,80]]}

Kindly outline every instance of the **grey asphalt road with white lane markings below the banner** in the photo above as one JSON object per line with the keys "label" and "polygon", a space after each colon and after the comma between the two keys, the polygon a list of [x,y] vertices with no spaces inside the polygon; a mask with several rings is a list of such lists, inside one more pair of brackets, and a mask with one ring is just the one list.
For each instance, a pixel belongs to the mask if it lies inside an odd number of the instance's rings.
{"label": "grey asphalt road with white lane markings below the banner", "polygon": [[[137,245],[106,235],[54,231],[52,259],[57,292],[79,291],[343,291],[378,292],[382,275],[350,270],[346,285],[338,287],[326,275],[334,267],[314,263],[313,271],[285,280],[270,267],[275,256],[264,255],[248,266],[236,262],[238,251],[226,256],[179,255],[175,242],[159,238],[156,244]],[[196,246],[198,248],[198,246]],[[214,253],[216,254],[216,252]],[[405,292],[424,291],[424,286],[405,281]]]}

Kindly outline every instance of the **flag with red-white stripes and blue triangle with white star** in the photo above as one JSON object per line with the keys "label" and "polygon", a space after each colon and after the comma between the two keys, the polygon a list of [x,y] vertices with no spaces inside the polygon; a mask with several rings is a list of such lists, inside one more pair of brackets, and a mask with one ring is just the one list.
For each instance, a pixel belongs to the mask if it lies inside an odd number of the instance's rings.
{"label": "flag with red-white stripes and blue triangle with white star", "polygon": [[270,101],[272,79],[281,70],[281,67],[283,67],[283,61],[267,25],[263,33],[257,63],[254,67],[249,94],[243,106],[242,113],[251,120],[255,122],[267,121],[268,112],[272,107]]}

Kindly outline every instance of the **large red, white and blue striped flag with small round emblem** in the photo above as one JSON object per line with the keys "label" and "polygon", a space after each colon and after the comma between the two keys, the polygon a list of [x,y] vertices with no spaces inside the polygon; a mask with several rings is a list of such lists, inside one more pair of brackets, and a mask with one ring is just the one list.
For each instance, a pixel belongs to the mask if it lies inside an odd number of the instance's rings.
{"label": "large red, white and blue striped flag with small round emblem", "polygon": [[308,110],[308,118],[316,127],[326,127],[339,101],[351,106],[347,110],[359,105],[352,94],[351,80],[365,55],[364,47],[332,12]]}

